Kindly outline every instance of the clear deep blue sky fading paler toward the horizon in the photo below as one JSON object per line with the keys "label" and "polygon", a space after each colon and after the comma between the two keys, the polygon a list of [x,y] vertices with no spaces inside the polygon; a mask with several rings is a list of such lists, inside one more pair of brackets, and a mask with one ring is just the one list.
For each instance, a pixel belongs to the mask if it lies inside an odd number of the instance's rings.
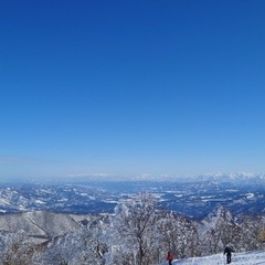
{"label": "clear deep blue sky fading paler toward the horizon", "polygon": [[0,178],[265,172],[265,1],[0,3]]}

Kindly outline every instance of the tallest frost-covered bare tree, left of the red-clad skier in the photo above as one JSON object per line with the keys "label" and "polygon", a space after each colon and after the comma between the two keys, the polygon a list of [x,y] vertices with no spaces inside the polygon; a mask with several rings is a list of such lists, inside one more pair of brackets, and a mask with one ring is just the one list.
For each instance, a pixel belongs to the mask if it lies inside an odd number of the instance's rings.
{"label": "tallest frost-covered bare tree, left of the red-clad skier", "polygon": [[116,208],[114,227],[123,242],[118,251],[127,258],[127,264],[151,264],[151,253],[158,245],[157,219],[156,200],[148,193],[140,193]]}

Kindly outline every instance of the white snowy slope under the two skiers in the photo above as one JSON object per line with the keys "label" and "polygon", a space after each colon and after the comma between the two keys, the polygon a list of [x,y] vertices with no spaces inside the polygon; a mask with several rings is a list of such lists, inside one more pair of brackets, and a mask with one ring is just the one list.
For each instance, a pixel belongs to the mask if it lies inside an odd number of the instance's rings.
{"label": "white snowy slope under the two skiers", "polygon": [[[231,265],[265,265],[265,251],[245,252],[245,253],[233,253]],[[226,264],[226,256],[222,253],[205,256],[205,257],[191,257],[186,259],[174,259],[172,265],[221,265]],[[168,265],[168,262],[161,265]]]}

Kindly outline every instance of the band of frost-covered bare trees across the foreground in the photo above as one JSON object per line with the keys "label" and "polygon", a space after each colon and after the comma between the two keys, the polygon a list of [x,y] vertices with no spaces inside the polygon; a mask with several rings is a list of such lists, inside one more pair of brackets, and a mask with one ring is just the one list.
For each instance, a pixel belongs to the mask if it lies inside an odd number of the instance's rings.
{"label": "band of frost-covered bare trees across the foreground", "polygon": [[163,262],[168,251],[186,258],[220,253],[227,243],[237,252],[261,250],[265,225],[263,216],[233,216],[222,205],[195,221],[159,209],[149,193],[118,204],[112,215],[83,216],[77,223],[43,239],[26,227],[0,227],[0,264],[151,265]]}

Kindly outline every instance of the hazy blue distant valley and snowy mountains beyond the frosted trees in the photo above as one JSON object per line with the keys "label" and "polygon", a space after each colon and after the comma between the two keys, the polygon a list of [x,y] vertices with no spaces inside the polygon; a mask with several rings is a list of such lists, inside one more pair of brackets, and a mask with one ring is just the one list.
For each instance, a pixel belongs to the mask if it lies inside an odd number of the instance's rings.
{"label": "hazy blue distant valley and snowy mountains beyond the frosted trees", "polygon": [[52,211],[57,213],[112,213],[117,203],[139,192],[152,193],[161,208],[202,219],[218,204],[234,213],[265,211],[262,174],[209,174],[171,180],[82,179],[75,183],[0,183],[0,212]]}

